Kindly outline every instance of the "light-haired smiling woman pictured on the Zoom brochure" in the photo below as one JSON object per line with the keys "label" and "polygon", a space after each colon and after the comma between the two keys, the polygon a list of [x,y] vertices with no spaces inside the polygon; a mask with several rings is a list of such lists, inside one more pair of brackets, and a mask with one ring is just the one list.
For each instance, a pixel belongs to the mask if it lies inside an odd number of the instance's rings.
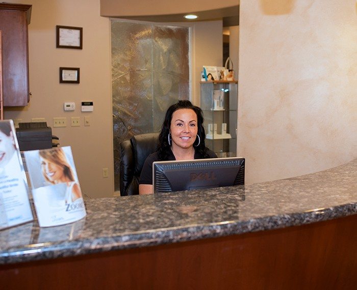
{"label": "light-haired smiling woman pictured on the Zoom brochure", "polygon": [[61,148],[40,150],[42,174],[51,184],[66,183],[65,203],[72,204],[82,197],[79,184],[75,182],[73,171]]}

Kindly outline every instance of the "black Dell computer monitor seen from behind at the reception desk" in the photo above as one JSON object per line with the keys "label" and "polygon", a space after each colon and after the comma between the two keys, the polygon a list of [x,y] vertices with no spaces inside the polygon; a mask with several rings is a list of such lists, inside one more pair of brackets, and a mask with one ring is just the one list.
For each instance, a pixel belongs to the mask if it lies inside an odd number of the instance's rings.
{"label": "black Dell computer monitor seen from behind at the reception desk", "polygon": [[244,184],[242,157],[152,163],[154,193]]}

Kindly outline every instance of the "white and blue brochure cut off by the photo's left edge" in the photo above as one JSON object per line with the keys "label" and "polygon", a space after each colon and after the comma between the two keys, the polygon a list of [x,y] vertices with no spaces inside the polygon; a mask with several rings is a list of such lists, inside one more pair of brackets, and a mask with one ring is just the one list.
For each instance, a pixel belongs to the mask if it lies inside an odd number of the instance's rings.
{"label": "white and blue brochure cut off by the photo's left edge", "polygon": [[14,123],[0,121],[0,229],[32,220]]}

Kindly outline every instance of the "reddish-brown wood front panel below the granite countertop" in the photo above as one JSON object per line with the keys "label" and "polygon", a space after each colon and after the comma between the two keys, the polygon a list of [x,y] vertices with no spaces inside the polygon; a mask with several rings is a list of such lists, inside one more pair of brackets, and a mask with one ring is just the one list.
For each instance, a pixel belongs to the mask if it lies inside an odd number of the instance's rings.
{"label": "reddish-brown wood front panel below the granite countertop", "polygon": [[353,289],[357,215],[177,244],[0,266],[4,289]]}

